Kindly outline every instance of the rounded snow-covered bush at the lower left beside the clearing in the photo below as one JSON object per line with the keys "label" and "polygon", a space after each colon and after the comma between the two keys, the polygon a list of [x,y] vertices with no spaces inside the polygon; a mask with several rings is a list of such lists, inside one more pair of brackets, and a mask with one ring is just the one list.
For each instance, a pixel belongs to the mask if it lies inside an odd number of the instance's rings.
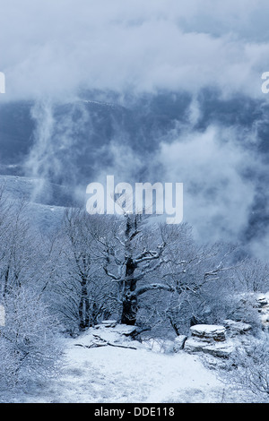
{"label": "rounded snow-covered bush at the lower left beside the clearing", "polygon": [[16,288],[2,302],[0,393],[6,387],[56,374],[61,357],[56,322],[36,292]]}

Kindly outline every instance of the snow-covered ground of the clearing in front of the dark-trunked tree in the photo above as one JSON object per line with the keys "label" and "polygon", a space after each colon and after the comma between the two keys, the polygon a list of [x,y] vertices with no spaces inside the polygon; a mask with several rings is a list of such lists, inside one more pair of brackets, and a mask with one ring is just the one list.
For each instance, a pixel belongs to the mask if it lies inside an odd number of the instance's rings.
{"label": "snow-covered ground of the clearing in front of the dark-trunked tree", "polygon": [[[92,333],[110,343],[132,348],[92,344]],[[89,330],[65,339],[65,366],[59,378],[40,382],[22,392],[22,403],[220,403],[242,398],[205,368],[198,356],[180,351],[165,354],[122,339],[115,331]],[[78,346],[77,344],[80,344]]]}

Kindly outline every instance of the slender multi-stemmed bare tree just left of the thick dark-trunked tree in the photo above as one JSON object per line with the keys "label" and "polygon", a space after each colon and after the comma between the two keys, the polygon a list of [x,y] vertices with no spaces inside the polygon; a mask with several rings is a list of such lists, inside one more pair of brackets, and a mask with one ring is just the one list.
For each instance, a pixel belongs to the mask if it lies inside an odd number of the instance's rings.
{"label": "slender multi-stemmed bare tree just left of the thick dark-trunked tree", "polygon": [[100,220],[86,211],[65,212],[53,289],[58,297],[58,311],[79,331],[97,324],[113,311],[112,288],[101,270],[96,247],[95,232],[99,229]]}

